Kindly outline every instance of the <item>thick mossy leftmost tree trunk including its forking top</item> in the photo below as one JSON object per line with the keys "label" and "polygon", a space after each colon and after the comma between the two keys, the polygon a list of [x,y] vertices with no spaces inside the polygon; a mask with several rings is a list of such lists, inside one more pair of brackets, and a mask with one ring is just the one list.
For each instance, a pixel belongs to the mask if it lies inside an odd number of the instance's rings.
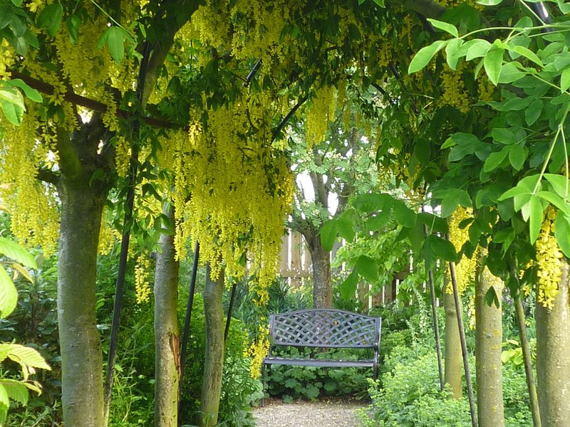
{"label": "thick mossy leftmost tree trunk including its forking top", "polygon": [[98,144],[105,139],[100,117],[58,135],[61,199],[58,248],[58,332],[61,400],[66,426],[103,427],[103,356],[95,319],[97,249],[107,188],[91,179],[104,167]]}

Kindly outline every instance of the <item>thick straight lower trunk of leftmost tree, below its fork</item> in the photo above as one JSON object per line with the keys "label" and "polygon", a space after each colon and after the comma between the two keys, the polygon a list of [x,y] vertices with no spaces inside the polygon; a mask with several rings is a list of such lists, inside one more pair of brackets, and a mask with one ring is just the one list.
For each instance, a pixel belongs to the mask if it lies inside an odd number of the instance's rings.
{"label": "thick straight lower trunk of leftmost tree, below its fork", "polygon": [[103,357],[95,320],[97,246],[105,196],[89,179],[61,179],[58,329],[66,426],[102,427]]}

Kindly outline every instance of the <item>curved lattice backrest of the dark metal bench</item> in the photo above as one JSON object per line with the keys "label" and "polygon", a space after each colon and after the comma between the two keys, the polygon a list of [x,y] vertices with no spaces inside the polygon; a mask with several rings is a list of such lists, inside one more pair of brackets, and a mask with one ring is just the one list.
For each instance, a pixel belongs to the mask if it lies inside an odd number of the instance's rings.
{"label": "curved lattice backrest of the dark metal bench", "polygon": [[299,310],[271,315],[273,344],[297,347],[378,346],[377,317],[343,310]]}

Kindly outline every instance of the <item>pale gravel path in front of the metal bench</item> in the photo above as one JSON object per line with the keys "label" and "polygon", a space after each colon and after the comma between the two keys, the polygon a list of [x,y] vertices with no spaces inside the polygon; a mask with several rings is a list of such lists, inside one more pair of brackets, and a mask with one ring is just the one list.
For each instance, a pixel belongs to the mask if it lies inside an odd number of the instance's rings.
{"label": "pale gravel path in front of the metal bench", "polygon": [[355,427],[358,421],[354,411],[364,406],[339,401],[284,404],[271,399],[253,413],[257,427]]}

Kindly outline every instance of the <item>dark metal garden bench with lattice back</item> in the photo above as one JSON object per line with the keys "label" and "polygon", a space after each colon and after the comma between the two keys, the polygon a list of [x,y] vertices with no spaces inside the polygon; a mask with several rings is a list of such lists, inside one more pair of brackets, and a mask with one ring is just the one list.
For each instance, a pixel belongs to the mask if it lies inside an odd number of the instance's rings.
{"label": "dark metal garden bench with lattice back", "polygon": [[[365,367],[378,377],[378,353],[382,319],[344,310],[298,310],[269,316],[269,354],[261,364],[265,390],[265,366],[271,364],[305,367]],[[280,357],[275,347],[314,347],[322,349],[373,349],[372,359],[341,360]]]}

